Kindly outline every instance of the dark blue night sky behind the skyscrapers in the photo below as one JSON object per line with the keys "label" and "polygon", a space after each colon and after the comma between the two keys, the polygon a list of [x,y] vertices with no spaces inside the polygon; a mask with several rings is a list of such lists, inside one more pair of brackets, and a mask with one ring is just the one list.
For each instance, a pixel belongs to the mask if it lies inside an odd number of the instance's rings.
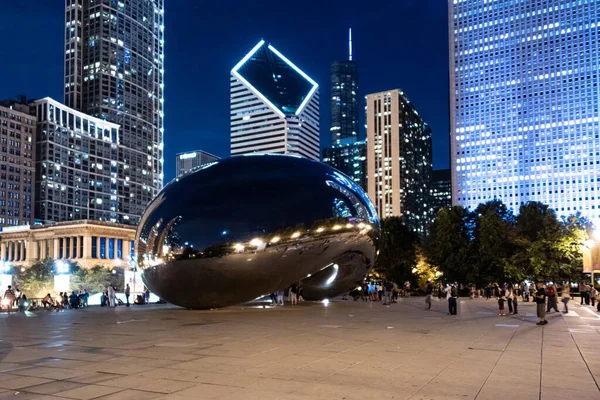
{"label": "dark blue night sky behind the skyscrapers", "polygon": [[[64,4],[0,0],[0,98],[63,100]],[[177,152],[229,154],[229,71],[261,38],[319,83],[326,145],[329,63],[347,57],[348,27],[361,98],[403,89],[433,130],[434,168],[448,167],[446,1],[165,0],[165,17],[165,181]]]}

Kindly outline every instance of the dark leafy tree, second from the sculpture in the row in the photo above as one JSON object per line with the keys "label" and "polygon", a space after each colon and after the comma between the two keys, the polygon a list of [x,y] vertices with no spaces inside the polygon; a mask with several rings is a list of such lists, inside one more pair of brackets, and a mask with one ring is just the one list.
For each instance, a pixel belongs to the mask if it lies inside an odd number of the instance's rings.
{"label": "dark leafy tree, second from the sculpture in the row", "polygon": [[475,282],[478,271],[472,238],[473,215],[461,206],[442,208],[431,226],[425,254],[446,279]]}

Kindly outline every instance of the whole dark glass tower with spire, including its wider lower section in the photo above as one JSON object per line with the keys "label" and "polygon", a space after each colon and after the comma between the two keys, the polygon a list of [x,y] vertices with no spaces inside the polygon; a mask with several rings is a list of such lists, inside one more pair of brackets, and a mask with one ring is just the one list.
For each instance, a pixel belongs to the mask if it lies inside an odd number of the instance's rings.
{"label": "whole dark glass tower with spire, including its wider lower section", "polygon": [[352,29],[348,30],[348,59],[331,63],[330,147],[323,149],[323,162],[367,187],[364,140],[358,137],[358,68],[352,60]]}

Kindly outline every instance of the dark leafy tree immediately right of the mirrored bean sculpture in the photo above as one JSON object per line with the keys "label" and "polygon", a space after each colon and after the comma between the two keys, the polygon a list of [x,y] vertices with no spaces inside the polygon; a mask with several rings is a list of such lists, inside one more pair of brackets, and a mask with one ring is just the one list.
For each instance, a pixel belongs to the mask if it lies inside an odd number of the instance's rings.
{"label": "dark leafy tree immediately right of the mirrored bean sculpture", "polygon": [[377,272],[397,283],[412,280],[416,284],[411,271],[417,263],[417,242],[400,217],[382,220]]}

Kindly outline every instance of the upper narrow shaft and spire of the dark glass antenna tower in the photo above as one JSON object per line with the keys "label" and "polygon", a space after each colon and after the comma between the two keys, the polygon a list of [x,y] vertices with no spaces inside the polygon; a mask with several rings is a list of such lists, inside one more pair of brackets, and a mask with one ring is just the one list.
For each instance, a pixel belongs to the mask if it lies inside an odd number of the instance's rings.
{"label": "upper narrow shaft and spire of the dark glass antenna tower", "polygon": [[352,30],[348,60],[331,63],[330,82],[331,145],[354,143],[358,139],[358,68],[352,61]]}

